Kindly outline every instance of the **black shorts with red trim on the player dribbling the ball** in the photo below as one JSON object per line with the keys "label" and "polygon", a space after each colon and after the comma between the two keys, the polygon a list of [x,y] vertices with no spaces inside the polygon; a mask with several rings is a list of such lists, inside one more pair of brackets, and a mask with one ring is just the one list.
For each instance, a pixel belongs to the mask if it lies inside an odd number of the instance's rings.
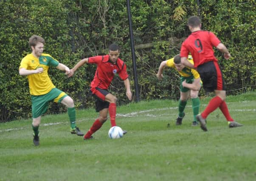
{"label": "black shorts with red trim on the player dribbling the ball", "polygon": [[[95,97],[95,110],[96,112],[101,111],[109,107],[110,103],[105,101],[105,96],[109,94],[107,89],[91,88],[90,93]],[[94,94],[93,94],[94,93]]]}

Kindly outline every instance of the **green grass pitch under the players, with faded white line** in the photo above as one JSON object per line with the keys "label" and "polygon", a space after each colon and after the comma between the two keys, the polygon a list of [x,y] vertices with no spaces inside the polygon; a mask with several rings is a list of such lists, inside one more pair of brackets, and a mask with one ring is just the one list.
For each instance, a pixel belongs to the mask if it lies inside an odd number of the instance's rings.
{"label": "green grass pitch under the players, with faded white line", "polygon": [[[209,100],[201,100],[201,111]],[[47,115],[34,147],[31,120],[1,123],[0,181],[255,181],[256,92],[228,96],[227,104],[244,126],[228,128],[218,109],[207,118],[208,132],[191,127],[191,100],[181,126],[177,101],[118,107],[116,122],[128,131],[121,139],[108,137],[109,120],[85,141],[69,133],[67,114]],[[77,126],[86,133],[97,116],[77,111]]]}

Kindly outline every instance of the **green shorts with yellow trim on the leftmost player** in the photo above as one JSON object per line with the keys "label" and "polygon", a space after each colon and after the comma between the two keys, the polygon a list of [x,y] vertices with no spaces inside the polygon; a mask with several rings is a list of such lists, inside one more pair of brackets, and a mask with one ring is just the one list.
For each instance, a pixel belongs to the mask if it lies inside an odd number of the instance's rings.
{"label": "green shorts with yellow trim on the leftmost player", "polygon": [[42,114],[45,114],[50,101],[60,103],[67,96],[68,95],[66,95],[65,92],[62,92],[57,88],[51,89],[50,92],[44,95],[32,95],[32,117],[37,118]]}

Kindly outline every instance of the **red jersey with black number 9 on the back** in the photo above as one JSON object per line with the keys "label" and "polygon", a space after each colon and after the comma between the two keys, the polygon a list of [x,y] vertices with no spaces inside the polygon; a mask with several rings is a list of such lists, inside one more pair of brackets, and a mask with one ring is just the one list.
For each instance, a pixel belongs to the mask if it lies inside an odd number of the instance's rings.
{"label": "red jersey with black number 9 on the back", "polygon": [[198,67],[208,61],[218,61],[214,56],[213,46],[217,47],[220,41],[210,31],[194,31],[182,43],[180,57],[188,57],[191,53],[194,60],[194,67]]}

